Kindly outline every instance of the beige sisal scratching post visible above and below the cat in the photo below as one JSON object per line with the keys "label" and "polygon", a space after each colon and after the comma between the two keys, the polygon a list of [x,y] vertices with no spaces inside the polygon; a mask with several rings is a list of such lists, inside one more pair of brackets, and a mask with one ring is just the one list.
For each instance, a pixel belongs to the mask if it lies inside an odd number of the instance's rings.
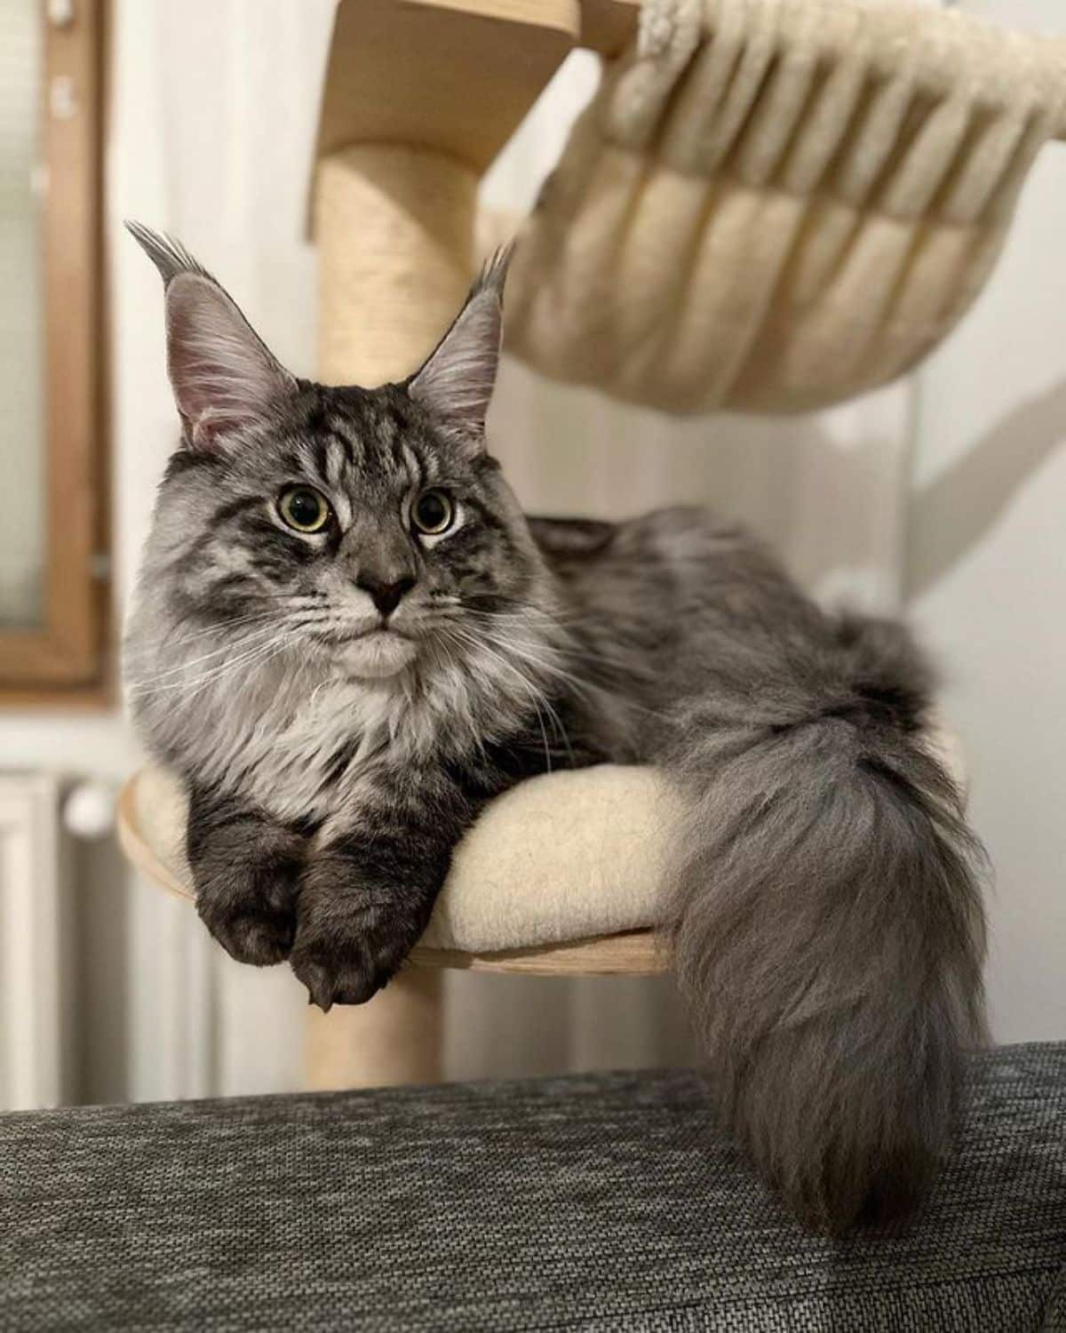
{"label": "beige sisal scratching post visible above and below the cat", "polygon": [[[314,184],[318,375],[376,385],[417,369],[470,283],[477,177],[428,149],[354,144]],[[440,1078],[441,978],[405,970],[369,1004],[308,1009],[310,1088]]]}

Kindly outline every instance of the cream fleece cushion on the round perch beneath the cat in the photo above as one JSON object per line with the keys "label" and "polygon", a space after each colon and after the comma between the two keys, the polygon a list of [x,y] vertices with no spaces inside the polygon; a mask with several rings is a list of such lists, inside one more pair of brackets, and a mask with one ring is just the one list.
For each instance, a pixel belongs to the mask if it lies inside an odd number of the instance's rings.
{"label": "cream fleece cushion on the round perch beneath the cat", "polygon": [[[965,788],[954,737],[935,728],[929,744]],[[133,810],[153,877],[192,898],[181,782],[143,769]],[[601,764],[520,782],[456,848],[422,944],[492,953],[654,926],[681,826],[677,793],[650,768]]]}

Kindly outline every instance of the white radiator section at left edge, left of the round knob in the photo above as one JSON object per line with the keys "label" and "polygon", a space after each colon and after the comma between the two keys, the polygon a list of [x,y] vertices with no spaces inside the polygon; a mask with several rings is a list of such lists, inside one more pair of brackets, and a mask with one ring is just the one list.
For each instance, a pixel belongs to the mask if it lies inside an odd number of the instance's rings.
{"label": "white radiator section at left edge, left of the round knob", "polygon": [[61,785],[0,773],[0,1108],[57,1105],[71,1000]]}

